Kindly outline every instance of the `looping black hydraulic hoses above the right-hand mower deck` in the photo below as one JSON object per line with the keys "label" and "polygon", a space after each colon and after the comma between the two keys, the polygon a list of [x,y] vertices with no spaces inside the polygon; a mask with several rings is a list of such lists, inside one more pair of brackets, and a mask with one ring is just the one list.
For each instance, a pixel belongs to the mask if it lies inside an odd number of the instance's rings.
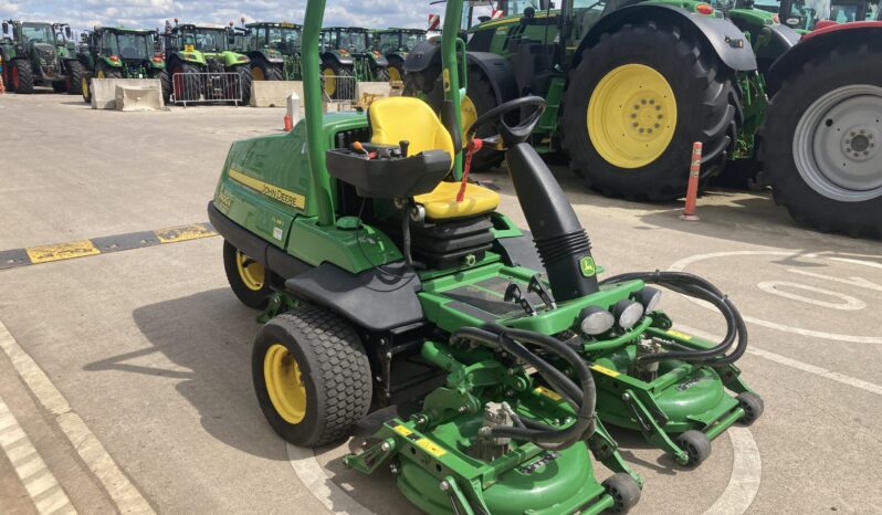
{"label": "looping black hydraulic hoses above the right-hand mower deck", "polygon": [[[747,350],[747,326],[738,308],[710,281],[687,272],[631,272],[603,280],[600,284],[643,281],[658,284],[674,292],[711,303],[726,320],[726,335],[723,340],[708,349],[673,350],[637,358],[639,362],[653,362],[663,359],[679,359],[690,362],[707,362],[717,367],[737,361]],[[737,341],[737,344],[736,344]],[[733,344],[735,349],[726,355]],[[682,346],[679,346],[682,348]]]}

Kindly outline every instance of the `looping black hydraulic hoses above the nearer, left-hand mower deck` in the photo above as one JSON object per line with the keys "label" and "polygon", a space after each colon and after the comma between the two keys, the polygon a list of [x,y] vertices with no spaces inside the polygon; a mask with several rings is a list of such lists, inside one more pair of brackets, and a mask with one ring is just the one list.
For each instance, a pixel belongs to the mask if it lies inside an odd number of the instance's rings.
{"label": "looping black hydraulic hoses above the nearer, left-hand mower deck", "polygon": [[[565,343],[550,336],[522,329],[512,329],[496,324],[487,324],[483,328],[464,327],[451,336],[451,341],[463,339],[498,347],[536,370],[577,409],[576,422],[566,429],[557,429],[542,422],[519,419],[515,427],[497,427],[491,429],[496,438],[512,438],[533,442],[546,450],[559,450],[585,440],[594,433],[595,403],[597,401],[594,377],[581,357]],[[579,378],[579,387],[559,369],[528,350],[524,344],[535,345],[555,354],[567,361]],[[523,425],[523,427],[519,427]]]}

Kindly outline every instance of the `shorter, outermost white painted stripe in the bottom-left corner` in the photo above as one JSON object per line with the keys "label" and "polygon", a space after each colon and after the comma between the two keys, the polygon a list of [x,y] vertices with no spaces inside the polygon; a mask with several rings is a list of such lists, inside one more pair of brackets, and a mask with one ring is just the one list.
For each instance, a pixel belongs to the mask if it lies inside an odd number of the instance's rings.
{"label": "shorter, outermost white painted stripe in the bottom-left corner", "polygon": [[[31,439],[19,425],[15,416],[0,397],[0,427],[14,428],[0,434],[0,449],[7,454],[19,480],[31,496],[33,505],[41,515],[51,513],[76,514],[71,500],[59,484],[55,475],[34,449]],[[52,490],[51,495],[42,495]],[[38,496],[40,498],[38,498]]]}

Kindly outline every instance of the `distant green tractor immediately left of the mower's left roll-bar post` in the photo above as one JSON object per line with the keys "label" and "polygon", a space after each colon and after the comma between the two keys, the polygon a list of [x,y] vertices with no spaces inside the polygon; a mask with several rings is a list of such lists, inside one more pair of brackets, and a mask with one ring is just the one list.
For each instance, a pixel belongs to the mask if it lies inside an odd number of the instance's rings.
{"label": "distant green tractor immediately left of the mower's left roll-bar post", "polygon": [[300,81],[301,25],[254,22],[244,25],[244,52],[255,81]]}

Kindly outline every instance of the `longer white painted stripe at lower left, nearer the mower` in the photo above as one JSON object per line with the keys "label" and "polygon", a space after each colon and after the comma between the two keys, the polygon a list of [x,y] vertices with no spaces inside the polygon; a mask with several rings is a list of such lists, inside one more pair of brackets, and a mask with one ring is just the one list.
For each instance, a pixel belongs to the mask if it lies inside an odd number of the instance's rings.
{"label": "longer white painted stripe at lower left, nearer the mower", "polygon": [[43,408],[55,417],[61,430],[86,466],[104,485],[117,509],[123,514],[156,513],[36,361],[19,346],[2,322],[0,322],[0,348],[9,356],[19,376]]}

